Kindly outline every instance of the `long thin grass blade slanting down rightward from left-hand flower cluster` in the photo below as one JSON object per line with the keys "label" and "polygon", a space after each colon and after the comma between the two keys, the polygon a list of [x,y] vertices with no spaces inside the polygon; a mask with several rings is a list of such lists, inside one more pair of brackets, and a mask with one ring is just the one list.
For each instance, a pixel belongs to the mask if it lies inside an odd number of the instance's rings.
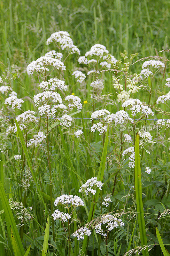
{"label": "long thin grass blade slanting down rightward from left-hand flower cluster", "polygon": [[30,162],[30,157],[29,157],[29,154],[28,154],[28,151],[27,151],[27,148],[26,148],[26,145],[25,145],[25,142],[24,142],[24,139],[23,139],[23,136],[22,136],[22,132],[19,128],[19,124],[17,122],[17,120],[15,119],[15,124],[17,126],[17,132],[18,132],[18,135],[19,135],[19,139],[21,141],[21,145],[22,145],[22,148],[23,148],[23,151],[25,153],[25,156],[27,158],[27,163],[28,163],[28,166],[30,168],[30,171],[32,173],[32,176],[33,176],[33,179],[34,179],[34,182],[35,182],[35,185],[36,185],[36,188],[37,188],[37,192],[38,192],[38,195],[39,195],[39,198],[41,199],[44,207],[45,207],[45,202],[44,202],[44,199],[43,199],[43,196],[41,194],[41,191],[40,191],[40,188],[38,186],[38,183],[37,183],[37,180],[35,178],[35,174],[34,174],[34,171],[33,171],[33,168],[32,168],[32,165],[31,165],[31,162]]}

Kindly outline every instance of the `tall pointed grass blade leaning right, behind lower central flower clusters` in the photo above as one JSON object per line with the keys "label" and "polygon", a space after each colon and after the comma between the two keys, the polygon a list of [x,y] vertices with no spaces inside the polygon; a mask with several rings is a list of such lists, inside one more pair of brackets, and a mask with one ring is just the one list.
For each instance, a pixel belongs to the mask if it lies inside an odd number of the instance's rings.
{"label": "tall pointed grass blade leaning right, behind lower central flower clusters", "polygon": [[[97,175],[97,180],[100,180],[100,181],[103,180],[103,175],[104,175],[106,156],[107,156],[108,134],[109,134],[109,126],[108,126],[107,132],[106,132],[106,138],[105,138],[105,141],[104,141],[102,157],[101,157],[99,171],[98,171],[98,175]],[[95,195],[95,201],[96,202],[98,201],[99,194],[100,194],[100,189],[98,188],[97,192],[96,192],[96,195]],[[91,203],[90,211],[89,211],[89,217],[88,217],[88,222],[93,220],[94,213],[95,213],[95,210],[96,210],[96,205],[97,205],[97,203],[95,203],[95,204],[93,204],[93,202]],[[85,236],[84,240],[83,240],[83,245],[82,245],[82,252],[84,254],[86,253],[87,244],[88,244],[88,237]]]}

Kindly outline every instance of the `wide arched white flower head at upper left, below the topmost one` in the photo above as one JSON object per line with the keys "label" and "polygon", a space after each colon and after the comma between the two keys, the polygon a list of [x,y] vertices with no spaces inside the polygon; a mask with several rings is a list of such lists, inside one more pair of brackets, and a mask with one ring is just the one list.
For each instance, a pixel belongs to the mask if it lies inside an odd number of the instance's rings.
{"label": "wide arched white flower head at upper left, below the topmost one", "polygon": [[66,66],[60,60],[42,56],[37,60],[33,60],[27,66],[27,74],[28,76],[32,75],[35,71],[44,74],[46,71],[49,71],[48,66],[52,66],[57,69],[66,70]]}

